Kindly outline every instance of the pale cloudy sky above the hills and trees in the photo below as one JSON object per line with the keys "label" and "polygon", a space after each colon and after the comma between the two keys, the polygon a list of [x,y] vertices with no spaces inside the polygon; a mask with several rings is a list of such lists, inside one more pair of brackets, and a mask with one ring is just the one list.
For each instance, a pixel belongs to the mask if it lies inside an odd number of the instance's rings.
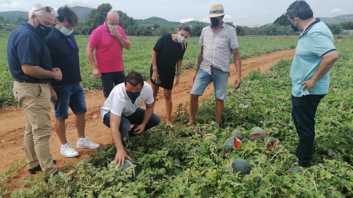
{"label": "pale cloudy sky above the hills and trees", "polygon": [[[30,11],[37,3],[49,4],[54,9],[62,5],[96,8],[109,2],[106,0],[0,0],[0,11]],[[169,21],[198,20],[209,22],[204,15],[209,13],[212,4],[223,4],[225,21],[237,25],[264,25],[272,23],[286,11],[294,0],[115,0],[110,1],[113,10],[122,10],[134,19],[161,17]],[[307,0],[314,17],[335,17],[353,14],[353,0]]]}

